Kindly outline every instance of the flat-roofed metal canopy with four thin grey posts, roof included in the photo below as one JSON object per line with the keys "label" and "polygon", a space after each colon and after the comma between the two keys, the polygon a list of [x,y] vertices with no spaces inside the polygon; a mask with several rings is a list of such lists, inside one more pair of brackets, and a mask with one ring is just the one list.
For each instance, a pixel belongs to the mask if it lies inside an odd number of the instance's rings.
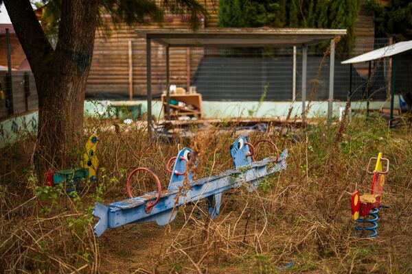
{"label": "flat-roofed metal canopy with four thin grey posts, roof included", "polygon": [[[292,47],[303,49],[302,64],[302,120],[306,116],[306,66],[308,45],[330,40],[330,84],[328,121],[332,119],[334,84],[334,38],[346,35],[346,29],[271,29],[271,28],[208,28],[191,29],[135,29],[137,36],[146,39],[146,81],[148,96],[148,134],[152,137],[152,42],[165,46],[166,50],[166,105],[169,97],[169,49],[170,47]],[[168,112],[168,108],[166,108]],[[168,113],[166,114],[169,118]]]}

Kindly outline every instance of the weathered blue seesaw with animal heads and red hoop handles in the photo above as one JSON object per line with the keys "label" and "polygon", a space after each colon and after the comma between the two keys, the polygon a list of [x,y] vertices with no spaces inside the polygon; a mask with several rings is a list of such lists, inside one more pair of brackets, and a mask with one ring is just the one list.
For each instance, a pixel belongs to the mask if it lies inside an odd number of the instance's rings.
{"label": "weathered blue seesaw with animal heads and red hoop handles", "polygon": [[[272,141],[266,141],[277,147]],[[256,144],[259,145],[259,144]],[[278,151],[277,151],[278,153]],[[285,149],[281,155],[270,156],[258,162],[252,162],[253,145],[243,136],[236,139],[230,147],[234,169],[229,169],[218,175],[193,180],[190,170],[192,149],[184,148],[175,158],[169,160],[167,169],[172,172],[168,190],[162,190],[159,178],[146,168],[135,169],[128,175],[127,192],[129,199],[117,201],[108,206],[95,203],[93,216],[98,217],[94,226],[94,233],[100,237],[108,228],[115,228],[128,223],[156,221],[158,225],[166,225],[176,217],[176,208],[184,203],[207,199],[209,216],[213,219],[218,216],[222,192],[236,188],[242,184],[252,191],[258,187],[260,179],[282,169],[286,169]],[[175,160],[173,169],[169,166]],[[157,191],[148,192],[139,197],[133,197],[130,190],[130,179],[138,171],[146,171],[155,178]]]}

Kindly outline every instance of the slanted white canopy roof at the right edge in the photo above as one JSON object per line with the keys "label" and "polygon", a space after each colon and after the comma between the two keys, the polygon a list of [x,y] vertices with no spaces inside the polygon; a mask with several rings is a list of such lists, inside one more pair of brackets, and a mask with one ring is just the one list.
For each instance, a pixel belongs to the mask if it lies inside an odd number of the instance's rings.
{"label": "slanted white canopy roof at the right edge", "polygon": [[377,60],[384,57],[389,57],[392,55],[396,55],[405,51],[409,51],[412,49],[412,40],[404,41],[404,42],[397,42],[396,44],[389,45],[387,47],[381,47],[380,49],[375,49],[374,51],[369,51],[367,53],[363,53],[358,55],[354,58],[350,58],[342,62],[342,64],[354,64],[360,62],[368,62],[372,60]]}

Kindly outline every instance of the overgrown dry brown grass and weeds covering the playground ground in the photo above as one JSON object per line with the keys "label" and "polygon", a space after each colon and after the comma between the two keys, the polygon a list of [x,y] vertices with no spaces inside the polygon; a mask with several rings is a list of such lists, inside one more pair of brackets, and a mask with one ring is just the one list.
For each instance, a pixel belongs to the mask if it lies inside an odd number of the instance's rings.
{"label": "overgrown dry brown grass and weeds covering the playground ground", "polygon": [[[93,125],[93,127],[92,127]],[[113,130],[114,129],[114,130]],[[196,129],[194,129],[196,131]],[[273,127],[252,134],[290,150],[288,169],[255,192],[225,192],[220,216],[210,220],[205,201],[179,208],[166,227],[155,223],[92,233],[95,201],[125,199],[126,175],[137,166],[155,171],[166,188],[165,163],[190,146],[199,164],[196,177],[231,168],[229,145],[236,132],[199,130],[191,140],[147,142],[144,128],[89,119],[85,138],[98,134],[99,187],[70,199],[47,190],[32,173],[33,140],[0,152],[0,273],[411,273],[412,135],[389,130],[382,121],[354,118],[330,128],[320,123],[293,134]],[[380,211],[379,236],[354,235],[350,193],[367,192],[369,157],[382,151],[391,160]],[[262,146],[257,160],[271,154]],[[144,173],[135,195],[155,188]],[[47,193],[45,193],[48,191]],[[290,261],[295,265],[279,269]]]}

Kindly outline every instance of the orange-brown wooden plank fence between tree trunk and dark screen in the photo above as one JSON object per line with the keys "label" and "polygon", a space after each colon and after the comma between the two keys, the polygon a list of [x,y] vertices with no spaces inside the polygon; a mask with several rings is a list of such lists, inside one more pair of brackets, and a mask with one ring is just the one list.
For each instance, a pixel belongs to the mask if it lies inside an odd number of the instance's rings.
{"label": "orange-brown wooden plank fence between tree trunk and dark screen", "polygon": [[[161,27],[153,24],[148,28]],[[187,28],[187,18],[166,16],[163,27]],[[141,27],[140,27],[141,28]],[[170,84],[187,88],[203,57],[203,49],[170,49]],[[152,92],[165,90],[165,47],[152,44]],[[96,33],[86,95],[94,98],[128,98],[146,96],[146,40],[139,38],[135,27],[107,22],[105,31]]]}

